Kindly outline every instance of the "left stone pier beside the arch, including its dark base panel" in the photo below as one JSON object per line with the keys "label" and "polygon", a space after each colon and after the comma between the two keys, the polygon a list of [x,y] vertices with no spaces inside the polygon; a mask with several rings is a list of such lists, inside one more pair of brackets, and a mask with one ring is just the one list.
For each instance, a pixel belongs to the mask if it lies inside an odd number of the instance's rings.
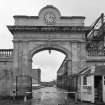
{"label": "left stone pier beside the arch, including its dark base panel", "polygon": [[[32,96],[32,78],[31,66],[28,58],[28,42],[21,41],[18,43],[18,73],[16,78],[17,96],[24,96],[26,92]],[[27,85],[26,85],[27,84]]]}

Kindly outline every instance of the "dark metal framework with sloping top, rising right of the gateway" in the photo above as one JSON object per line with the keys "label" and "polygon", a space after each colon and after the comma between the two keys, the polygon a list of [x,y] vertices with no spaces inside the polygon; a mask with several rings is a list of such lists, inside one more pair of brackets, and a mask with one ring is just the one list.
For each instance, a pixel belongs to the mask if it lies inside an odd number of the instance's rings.
{"label": "dark metal framework with sloping top, rising right of the gateway", "polygon": [[[90,26],[88,33],[86,34],[86,50],[88,56],[104,56],[104,51],[98,49],[93,50],[93,48],[99,48],[104,45],[104,14],[94,22],[93,25]],[[100,44],[100,42],[103,42]],[[93,48],[92,48],[93,46]]]}

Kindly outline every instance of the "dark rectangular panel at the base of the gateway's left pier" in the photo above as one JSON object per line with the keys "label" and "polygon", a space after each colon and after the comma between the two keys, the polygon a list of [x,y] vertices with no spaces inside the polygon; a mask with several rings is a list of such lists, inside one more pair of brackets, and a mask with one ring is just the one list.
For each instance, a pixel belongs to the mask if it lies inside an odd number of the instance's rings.
{"label": "dark rectangular panel at the base of the gateway's left pier", "polygon": [[18,97],[32,98],[32,77],[27,75],[17,76],[16,89]]}

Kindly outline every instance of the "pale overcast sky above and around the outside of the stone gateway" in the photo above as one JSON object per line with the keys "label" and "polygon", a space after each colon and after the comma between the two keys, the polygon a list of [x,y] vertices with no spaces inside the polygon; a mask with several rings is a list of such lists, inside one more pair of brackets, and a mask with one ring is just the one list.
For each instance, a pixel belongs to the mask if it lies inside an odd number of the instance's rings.
{"label": "pale overcast sky above and around the outside of the stone gateway", "polygon": [[105,0],[0,0],[0,49],[13,48],[6,26],[14,24],[14,15],[37,16],[46,5],[54,5],[62,16],[85,16],[88,26],[105,13]]}

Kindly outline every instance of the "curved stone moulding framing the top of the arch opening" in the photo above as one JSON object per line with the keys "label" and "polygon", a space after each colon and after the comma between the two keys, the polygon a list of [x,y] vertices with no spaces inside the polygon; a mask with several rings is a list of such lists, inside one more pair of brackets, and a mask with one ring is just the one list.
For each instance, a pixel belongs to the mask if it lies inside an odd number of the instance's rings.
{"label": "curved stone moulding framing the top of the arch opening", "polygon": [[[47,46],[47,45],[40,45],[40,46],[38,46],[38,47],[34,47],[30,52],[29,52],[29,59],[30,59],[30,61],[32,62],[32,58],[33,58],[33,56],[36,54],[36,53],[38,53],[38,52],[40,52],[40,51],[44,51],[44,50],[49,50],[49,51],[51,51],[51,50],[55,50],[55,51],[58,51],[58,52],[61,52],[61,53],[63,53],[65,56],[66,56],[66,60],[68,60],[68,74],[71,74],[71,65],[72,65],[72,60],[71,60],[71,52],[68,50],[68,49],[66,49],[66,48],[64,48],[64,47],[62,47],[62,46],[59,46],[59,45],[50,45],[49,47]],[[32,63],[30,64],[30,69],[32,69]]]}

